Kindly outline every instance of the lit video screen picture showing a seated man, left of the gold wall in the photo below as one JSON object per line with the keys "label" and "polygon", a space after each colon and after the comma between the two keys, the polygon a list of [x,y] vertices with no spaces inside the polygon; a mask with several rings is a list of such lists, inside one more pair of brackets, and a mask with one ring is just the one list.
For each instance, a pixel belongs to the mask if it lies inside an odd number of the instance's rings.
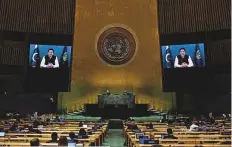
{"label": "lit video screen picture showing a seated man, left of the gold wall", "polygon": [[71,46],[31,44],[29,66],[32,68],[70,67],[71,48]]}

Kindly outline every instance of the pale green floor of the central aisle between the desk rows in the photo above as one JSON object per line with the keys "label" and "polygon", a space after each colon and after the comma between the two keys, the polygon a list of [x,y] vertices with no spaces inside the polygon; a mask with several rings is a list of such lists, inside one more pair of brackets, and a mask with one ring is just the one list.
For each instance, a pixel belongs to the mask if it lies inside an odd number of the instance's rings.
{"label": "pale green floor of the central aisle between the desk rows", "polygon": [[102,146],[124,147],[125,138],[122,129],[110,129]]}

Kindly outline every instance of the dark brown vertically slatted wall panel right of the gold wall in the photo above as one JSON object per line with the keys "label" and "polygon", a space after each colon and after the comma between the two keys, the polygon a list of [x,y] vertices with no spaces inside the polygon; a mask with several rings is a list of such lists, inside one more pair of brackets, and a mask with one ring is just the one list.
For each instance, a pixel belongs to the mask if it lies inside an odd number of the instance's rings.
{"label": "dark brown vertically slatted wall panel right of the gold wall", "polygon": [[230,29],[230,0],[158,0],[159,32]]}

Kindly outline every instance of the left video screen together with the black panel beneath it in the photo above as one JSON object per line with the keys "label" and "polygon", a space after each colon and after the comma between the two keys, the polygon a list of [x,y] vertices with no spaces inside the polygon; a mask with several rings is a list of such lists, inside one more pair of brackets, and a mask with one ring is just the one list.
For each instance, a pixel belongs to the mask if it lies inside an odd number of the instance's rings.
{"label": "left video screen together with the black panel beneath it", "polygon": [[31,44],[26,92],[68,92],[72,46]]}

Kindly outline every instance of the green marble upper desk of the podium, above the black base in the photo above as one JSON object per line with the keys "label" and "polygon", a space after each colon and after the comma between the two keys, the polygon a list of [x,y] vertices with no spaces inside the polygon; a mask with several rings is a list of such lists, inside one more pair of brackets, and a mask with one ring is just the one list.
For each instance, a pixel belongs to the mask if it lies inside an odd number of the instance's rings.
{"label": "green marble upper desk of the podium, above the black base", "polygon": [[104,108],[106,105],[127,105],[128,108],[135,107],[135,94],[99,94],[98,95],[99,108]]}

